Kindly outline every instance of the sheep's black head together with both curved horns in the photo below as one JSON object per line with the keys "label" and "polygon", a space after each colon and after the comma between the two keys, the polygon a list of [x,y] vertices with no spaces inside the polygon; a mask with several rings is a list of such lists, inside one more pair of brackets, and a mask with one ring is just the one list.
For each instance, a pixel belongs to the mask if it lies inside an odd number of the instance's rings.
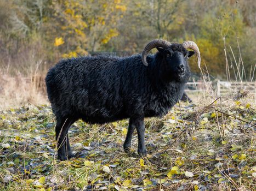
{"label": "sheep's black head together with both curved horns", "polygon": [[[187,66],[187,59],[194,55],[194,53],[196,53],[198,67],[200,68],[200,51],[193,41],[185,41],[183,44],[172,44],[162,39],[152,40],[146,45],[142,53],[142,61],[144,65],[148,65],[146,62],[147,53],[155,47],[160,52],[164,63],[166,63],[166,70],[172,71],[178,78],[183,77],[186,70],[189,69]],[[192,49],[194,51],[187,51],[186,49]]]}

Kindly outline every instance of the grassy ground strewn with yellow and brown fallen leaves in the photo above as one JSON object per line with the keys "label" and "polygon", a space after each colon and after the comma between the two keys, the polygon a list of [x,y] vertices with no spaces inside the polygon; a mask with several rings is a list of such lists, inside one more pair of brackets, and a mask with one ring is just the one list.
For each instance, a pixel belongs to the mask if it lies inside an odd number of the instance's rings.
{"label": "grassy ground strewn with yellow and brown fallen leaves", "polygon": [[147,118],[146,156],[136,154],[136,133],[133,152],[123,151],[128,120],[77,121],[69,131],[76,157],[64,162],[56,158],[48,105],[0,111],[0,188],[255,190],[255,98],[215,99],[180,103],[164,118]]}

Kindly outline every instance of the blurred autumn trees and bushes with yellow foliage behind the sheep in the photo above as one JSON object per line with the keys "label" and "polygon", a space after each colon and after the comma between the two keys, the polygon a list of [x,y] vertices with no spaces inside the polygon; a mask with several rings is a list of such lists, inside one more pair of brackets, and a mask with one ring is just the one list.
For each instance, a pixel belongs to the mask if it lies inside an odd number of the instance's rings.
{"label": "blurred autumn trees and bushes with yellow foliage behind the sheep", "polygon": [[[191,39],[211,75],[226,79],[227,57],[234,79],[235,59],[247,75],[255,66],[255,12],[253,0],[3,0],[0,65],[11,74],[26,74],[31,61],[39,62],[45,73],[62,57],[98,51],[132,55],[155,38]],[[195,61],[191,68],[200,72]]]}

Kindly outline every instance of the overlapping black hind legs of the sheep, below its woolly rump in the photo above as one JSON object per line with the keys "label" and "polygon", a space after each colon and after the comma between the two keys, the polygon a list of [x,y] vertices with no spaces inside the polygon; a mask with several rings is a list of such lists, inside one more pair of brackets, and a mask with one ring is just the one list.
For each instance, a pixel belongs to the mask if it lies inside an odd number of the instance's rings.
{"label": "overlapping black hind legs of the sheep, below its woolly rump", "polygon": [[67,133],[69,130],[69,127],[71,126],[73,122],[71,119],[66,118],[64,119],[57,119],[57,124],[55,128],[56,132],[56,140],[57,140],[57,148],[58,148],[58,158],[60,160],[66,160],[69,158],[69,154],[71,152],[69,139],[67,137]]}

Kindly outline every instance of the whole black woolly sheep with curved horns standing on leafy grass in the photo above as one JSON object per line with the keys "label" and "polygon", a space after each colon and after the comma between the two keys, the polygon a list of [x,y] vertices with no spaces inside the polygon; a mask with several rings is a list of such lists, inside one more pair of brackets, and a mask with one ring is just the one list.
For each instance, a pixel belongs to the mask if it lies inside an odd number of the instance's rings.
{"label": "whole black woolly sheep with curved horns standing on leafy grass", "polygon": [[[158,52],[147,56],[155,47]],[[57,121],[58,158],[73,157],[67,132],[78,119],[102,124],[129,118],[124,150],[129,150],[136,128],[138,153],[146,153],[144,118],[162,117],[178,102],[190,76],[187,58],[194,53],[200,66],[194,42],[171,44],[156,39],[142,55],[78,57],[56,64],[45,81]]]}

